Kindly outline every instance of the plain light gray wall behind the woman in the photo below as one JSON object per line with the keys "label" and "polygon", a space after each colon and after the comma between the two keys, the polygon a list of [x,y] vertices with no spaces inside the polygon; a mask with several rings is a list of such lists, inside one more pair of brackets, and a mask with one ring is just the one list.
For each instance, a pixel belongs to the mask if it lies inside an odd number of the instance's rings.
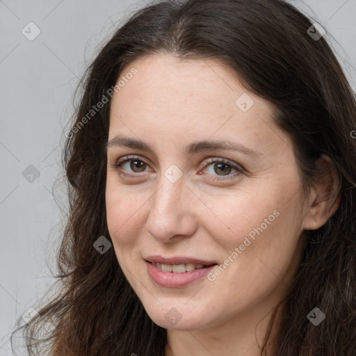
{"label": "plain light gray wall behind the woman", "polygon": [[[337,40],[325,35],[355,90],[356,0],[289,2]],[[54,282],[67,207],[60,155],[74,88],[103,41],[144,4],[0,1],[0,356],[11,355],[15,319]],[[32,41],[22,33],[35,33],[29,22],[40,29]]]}

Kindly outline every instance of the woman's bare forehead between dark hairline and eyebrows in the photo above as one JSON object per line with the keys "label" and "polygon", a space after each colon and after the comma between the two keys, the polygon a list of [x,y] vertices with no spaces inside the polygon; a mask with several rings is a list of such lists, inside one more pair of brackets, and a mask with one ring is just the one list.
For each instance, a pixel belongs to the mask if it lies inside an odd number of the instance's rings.
{"label": "woman's bare forehead between dark hairline and eyebrows", "polygon": [[237,140],[252,149],[281,144],[273,105],[249,92],[218,60],[146,56],[129,63],[119,80],[124,85],[113,95],[109,139],[124,131],[151,136],[152,142],[159,137],[184,143],[194,136]]}

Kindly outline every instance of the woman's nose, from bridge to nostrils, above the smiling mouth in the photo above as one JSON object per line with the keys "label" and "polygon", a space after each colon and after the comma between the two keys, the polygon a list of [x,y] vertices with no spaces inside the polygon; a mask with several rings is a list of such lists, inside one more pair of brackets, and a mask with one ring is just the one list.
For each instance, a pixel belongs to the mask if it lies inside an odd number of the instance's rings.
{"label": "woman's nose, from bridge to nostrils, above the smiling mouth", "polygon": [[197,197],[186,186],[184,176],[172,183],[162,175],[159,183],[158,190],[149,199],[147,232],[161,242],[192,236],[197,227],[194,211]]}

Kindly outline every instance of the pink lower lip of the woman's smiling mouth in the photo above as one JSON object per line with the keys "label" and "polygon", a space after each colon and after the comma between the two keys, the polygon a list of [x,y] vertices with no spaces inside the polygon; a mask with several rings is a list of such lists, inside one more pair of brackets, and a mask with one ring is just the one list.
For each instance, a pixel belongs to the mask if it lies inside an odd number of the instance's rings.
{"label": "pink lower lip of the woman's smiling mouth", "polygon": [[163,272],[158,267],[154,266],[147,261],[145,261],[147,266],[147,273],[149,277],[152,278],[156,284],[160,286],[168,286],[168,287],[179,287],[179,286],[186,286],[191,282],[204,277],[207,275],[211,270],[216,267],[216,265],[205,267],[205,268],[197,268],[195,270],[191,270],[190,272],[184,273],[174,273],[174,272]]}

